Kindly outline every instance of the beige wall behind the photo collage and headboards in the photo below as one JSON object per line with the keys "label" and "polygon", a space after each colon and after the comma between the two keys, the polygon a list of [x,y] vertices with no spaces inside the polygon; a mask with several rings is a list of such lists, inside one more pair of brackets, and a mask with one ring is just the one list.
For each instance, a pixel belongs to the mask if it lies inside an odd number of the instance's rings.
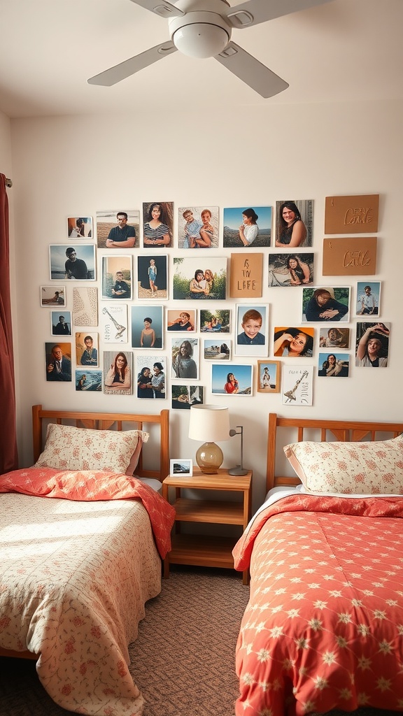
{"label": "beige wall behind the photo collage and headboards", "polygon": [[[389,367],[375,374],[354,367],[351,377],[323,381],[316,377],[312,407],[283,406],[281,395],[212,397],[211,365],[201,361],[200,383],[206,402],[229,405],[232,426],[244,425],[244,463],[254,470],[255,504],[264,493],[267,413],[305,417],[403,420],[403,353],[400,284],[402,248],[402,102],[356,102],[346,105],[270,105],[240,107],[226,114],[181,111],[105,117],[58,117],[11,121],[13,200],[15,207],[16,366],[21,380],[19,430],[22,463],[32,460],[30,407],[90,410],[146,410],[169,407],[139,402],[135,395],[80,394],[73,384],[47,383],[44,342],[49,311],[39,306],[39,286],[49,282],[49,243],[65,241],[67,216],[93,216],[105,208],[139,208],[143,201],[171,200],[189,205],[275,205],[283,198],[314,200],[313,251],[316,284],[321,284],[321,248],[326,195],[379,193],[378,274],[382,281],[381,319],[392,324]],[[1,131],[1,130],[0,130]],[[0,147],[2,144],[0,135]],[[4,144],[7,144],[6,138]],[[138,250],[129,253],[136,255]],[[242,251],[242,249],[240,249]],[[300,321],[300,289],[267,288],[270,352],[274,326]],[[101,253],[101,252],[100,252]],[[176,250],[167,251],[169,265]],[[229,250],[215,250],[229,256]],[[98,275],[100,266],[98,257]],[[356,281],[327,278],[324,284],[352,286]],[[68,286],[72,291],[72,287]],[[71,309],[70,294],[67,308]],[[227,300],[234,309],[235,301]],[[167,301],[171,308],[175,301]],[[195,306],[199,308],[199,306]],[[233,310],[234,321],[234,310]],[[354,320],[351,320],[354,329]],[[353,330],[353,334],[354,334]],[[169,355],[169,342],[162,354]],[[102,348],[102,347],[101,347]],[[353,350],[350,351],[353,353]],[[236,358],[240,362],[247,359]],[[256,359],[252,362],[255,363]],[[313,359],[318,361],[318,342]],[[170,394],[170,384],[169,390]],[[90,402],[89,402],[90,401]],[[171,456],[193,458],[198,443],[189,440],[189,413],[171,411]],[[222,443],[224,465],[234,463],[238,438]]]}

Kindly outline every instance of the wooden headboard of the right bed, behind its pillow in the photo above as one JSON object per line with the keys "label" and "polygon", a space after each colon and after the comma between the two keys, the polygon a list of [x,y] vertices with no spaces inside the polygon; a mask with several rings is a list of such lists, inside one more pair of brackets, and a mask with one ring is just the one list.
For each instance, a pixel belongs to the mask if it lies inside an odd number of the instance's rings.
{"label": "wooden headboard of the right bed, behind its pillow", "polygon": [[[279,428],[286,430],[279,430]],[[388,440],[403,432],[401,422],[359,422],[357,420],[304,420],[298,417],[279,417],[269,414],[267,437],[267,478],[266,492],[277,485],[298,485],[299,478],[280,474],[277,469],[284,445],[301,440],[315,442],[359,442],[360,440]],[[292,473],[292,468],[290,468]]]}

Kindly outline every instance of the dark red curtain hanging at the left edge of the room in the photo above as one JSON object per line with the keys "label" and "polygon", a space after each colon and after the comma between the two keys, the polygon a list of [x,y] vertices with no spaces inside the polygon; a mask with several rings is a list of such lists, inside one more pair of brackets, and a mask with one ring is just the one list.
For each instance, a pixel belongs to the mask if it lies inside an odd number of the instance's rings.
{"label": "dark red curtain hanging at the left edge of the room", "polygon": [[9,272],[9,200],[0,174],[0,474],[18,468]]}

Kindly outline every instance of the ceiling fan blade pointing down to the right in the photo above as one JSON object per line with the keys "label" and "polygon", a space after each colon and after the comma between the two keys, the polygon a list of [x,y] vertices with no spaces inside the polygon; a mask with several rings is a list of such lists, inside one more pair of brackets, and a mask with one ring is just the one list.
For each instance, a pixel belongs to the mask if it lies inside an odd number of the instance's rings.
{"label": "ceiling fan blade pointing down to the right", "polygon": [[249,84],[262,97],[273,97],[288,87],[288,82],[278,77],[278,74],[265,67],[262,62],[252,57],[249,52],[235,42],[229,42],[227,47],[214,59],[227,67],[229,72],[236,74],[243,82]]}

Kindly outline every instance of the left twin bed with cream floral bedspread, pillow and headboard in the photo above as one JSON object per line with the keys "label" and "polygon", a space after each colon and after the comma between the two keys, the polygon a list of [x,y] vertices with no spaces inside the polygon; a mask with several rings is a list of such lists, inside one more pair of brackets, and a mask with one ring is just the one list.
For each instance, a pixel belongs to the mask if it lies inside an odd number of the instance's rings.
{"label": "left twin bed with cream floral bedspread, pillow and headboard", "polygon": [[141,714],[128,644],[171,544],[169,411],[32,416],[35,465],[0,476],[0,655],[37,659],[67,710]]}

